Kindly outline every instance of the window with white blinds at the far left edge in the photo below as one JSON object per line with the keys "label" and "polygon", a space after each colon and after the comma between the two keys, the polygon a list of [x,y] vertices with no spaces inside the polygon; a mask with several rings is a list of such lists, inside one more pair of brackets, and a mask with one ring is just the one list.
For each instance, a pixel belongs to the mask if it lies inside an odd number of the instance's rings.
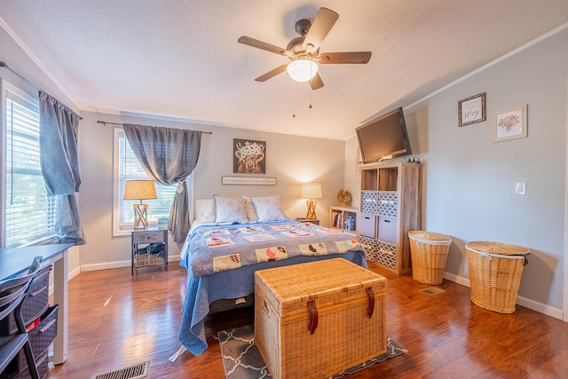
{"label": "window with white blinds at the far left edge", "polygon": [[55,198],[47,195],[39,158],[39,100],[2,82],[3,224],[0,245],[25,246],[54,236]]}

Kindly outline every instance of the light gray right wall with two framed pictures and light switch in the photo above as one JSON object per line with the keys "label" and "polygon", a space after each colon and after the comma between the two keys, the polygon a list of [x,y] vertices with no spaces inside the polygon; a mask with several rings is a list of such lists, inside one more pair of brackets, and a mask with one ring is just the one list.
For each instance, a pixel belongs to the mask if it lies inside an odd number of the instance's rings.
{"label": "light gray right wall with two framed pictures and light switch", "polygon": [[[531,249],[519,304],[562,318],[568,30],[406,108],[422,158],[424,228],[454,243],[446,278],[469,285],[465,244]],[[458,100],[486,92],[487,121],[458,126]],[[528,138],[492,142],[495,111],[528,104]],[[348,158],[348,154],[346,156]],[[527,183],[525,196],[514,194]]]}

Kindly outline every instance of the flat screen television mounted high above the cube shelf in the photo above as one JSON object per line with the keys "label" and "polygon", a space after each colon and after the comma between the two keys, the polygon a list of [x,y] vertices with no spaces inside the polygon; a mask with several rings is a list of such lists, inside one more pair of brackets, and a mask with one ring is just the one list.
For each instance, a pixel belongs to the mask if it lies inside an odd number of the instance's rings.
{"label": "flat screen television mounted high above the cube shelf", "polygon": [[359,126],[356,132],[363,163],[412,154],[401,107]]}

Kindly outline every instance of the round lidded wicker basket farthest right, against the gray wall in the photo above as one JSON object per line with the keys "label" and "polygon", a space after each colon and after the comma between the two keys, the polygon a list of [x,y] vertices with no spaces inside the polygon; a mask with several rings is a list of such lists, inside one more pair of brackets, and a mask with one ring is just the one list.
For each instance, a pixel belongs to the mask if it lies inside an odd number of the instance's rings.
{"label": "round lidded wicker basket farthest right, against the gray wall", "polygon": [[493,312],[513,313],[530,250],[500,242],[469,242],[471,302]]}

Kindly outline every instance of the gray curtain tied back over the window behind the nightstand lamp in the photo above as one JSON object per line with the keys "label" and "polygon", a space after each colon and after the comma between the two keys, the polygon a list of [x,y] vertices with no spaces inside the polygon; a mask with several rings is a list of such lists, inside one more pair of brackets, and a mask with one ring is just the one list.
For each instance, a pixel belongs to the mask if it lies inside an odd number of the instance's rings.
{"label": "gray curtain tied back over the window behind the nightstand lamp", "polygon": [[124,132],[148,177],[163,185],[177,184],[168,230],[174,241],[185,241],[191,226],[185,178],[197,165],[201,131],[125,123]]}

